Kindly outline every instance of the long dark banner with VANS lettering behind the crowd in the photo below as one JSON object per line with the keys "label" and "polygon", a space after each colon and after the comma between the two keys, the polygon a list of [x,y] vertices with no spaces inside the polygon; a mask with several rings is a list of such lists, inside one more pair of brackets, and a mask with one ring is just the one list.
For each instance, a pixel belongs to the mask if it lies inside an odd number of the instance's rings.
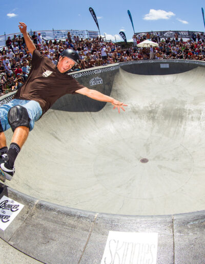
{"label": "long dark banner with VANS lettering behind the crowd", "polygon": [[152,35],[156,36],[158,35],[160,38],[175,38],[175,33],[178,34],[178,38],[192,38],[192,34],[196,34],[196,36],[199,34],[201,35],[201,33],[203,34],[204,32],[202,31],[179,31],[179,30],[169,30],[169,31],[147,31],[147,32],[138,32],[135,33],[137,36],[146,36],[147,33],[150,34],[150,37]]}

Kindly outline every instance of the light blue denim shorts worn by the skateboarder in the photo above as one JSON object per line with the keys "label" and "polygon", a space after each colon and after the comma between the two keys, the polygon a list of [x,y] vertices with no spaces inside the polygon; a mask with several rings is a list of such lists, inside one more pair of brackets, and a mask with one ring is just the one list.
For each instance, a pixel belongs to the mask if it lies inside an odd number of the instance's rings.
{"label": "light blue denim shorts worn by the skateboarder", "polygon": [[20,100],[13,99],[11,102],[3,104],[0,106],[0,121],[4,131],[10,128],[8,122],[8,112],[9,109],[15,105],[22,105],[27,109],[29,114],[29,130],[31,131],[34,127],[34,122],[37,121],[42,116],[42,108],[39,103],[33,100]]}

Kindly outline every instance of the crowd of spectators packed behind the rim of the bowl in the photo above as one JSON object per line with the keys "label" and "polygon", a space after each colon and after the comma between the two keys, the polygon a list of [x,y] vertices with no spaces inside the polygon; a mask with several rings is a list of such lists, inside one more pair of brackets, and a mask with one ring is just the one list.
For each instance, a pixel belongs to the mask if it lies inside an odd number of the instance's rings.
{"label": "crowd of spectators packed behind the rim of the bowl", "polygon": [[[36,49],[57,65],[60,53],[73,49],[79,54],[79,63],[71,71],[79,71],[116,62],[147,59],[190,59],[205,60],[204,35],[193,34],[184,41],[178,38],[160,39],[159,34],[134,35],[132,45],[123,49],[117,43],[104,38],[79,38],[68,32],[66,40],[45,40],[40,33],[31,36]],[[138,48],[137,44],[146,39],[157,42],[159,47]],[[6,46],[0,51],[0,95],[17,90],[22,86],[31,69],[32,55],[26,48],[24,38],[19,35],[8,37]]]}

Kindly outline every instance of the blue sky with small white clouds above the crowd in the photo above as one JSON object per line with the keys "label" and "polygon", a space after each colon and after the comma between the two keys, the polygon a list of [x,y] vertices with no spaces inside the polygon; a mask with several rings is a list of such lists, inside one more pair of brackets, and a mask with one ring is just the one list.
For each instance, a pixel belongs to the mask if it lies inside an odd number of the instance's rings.
{"label": "blue sky with small white clouds above the crowd", "polygon": [[4,1],[0,15],[2,23],[0,35],[17,33],[18,21],[23,21],[32,30],[94,30],[97,26],[90,14],[92,7],[98,18],[101,35],[107,39],[122,41],[120,31],[124,31],[128,40],[133,36],[132,25],[127,13],[132,14],[135,32],[190,30],[205,31],[201,7],[205,11],[204,1],[122,1],[122,0],[78,0],[44,1],[22,0]]}

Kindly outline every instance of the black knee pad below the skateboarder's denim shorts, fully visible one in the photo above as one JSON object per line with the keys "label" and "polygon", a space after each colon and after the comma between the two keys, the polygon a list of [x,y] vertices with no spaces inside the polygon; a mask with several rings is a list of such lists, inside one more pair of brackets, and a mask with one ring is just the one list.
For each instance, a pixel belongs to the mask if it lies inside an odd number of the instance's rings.
{"label": "black knee pad below the skateboarder's denim shorts, fully visible one", "polygon": [[21,105],[13,106],[9,110],[8,121],[12,131],[14,131],[18,126],[29,127],[30,118],[27,109]]}

